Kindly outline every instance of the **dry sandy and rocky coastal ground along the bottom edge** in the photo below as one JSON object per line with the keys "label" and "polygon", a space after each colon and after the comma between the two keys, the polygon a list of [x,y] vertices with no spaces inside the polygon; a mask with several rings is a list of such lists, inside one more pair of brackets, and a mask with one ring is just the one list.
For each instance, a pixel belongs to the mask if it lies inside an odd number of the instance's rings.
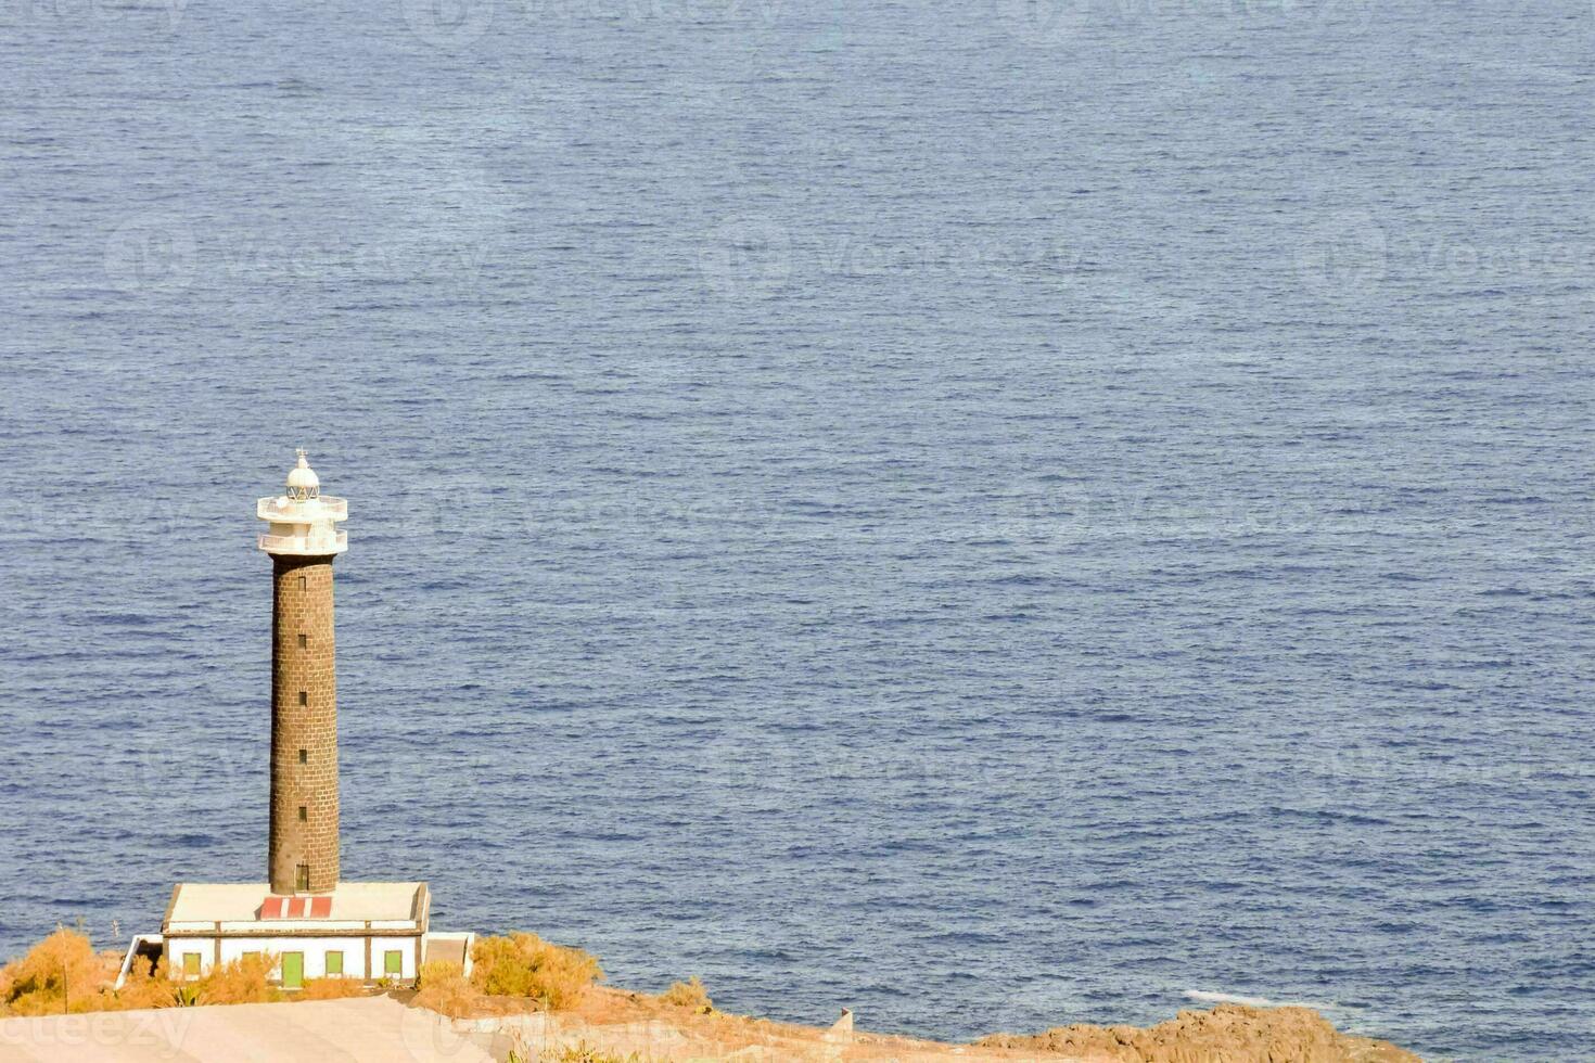
{"label": "dry sandy and rocky coastal ground along the bottom edge", "polygon": [[560,1012],[445,1018],[399,994],[338,1001],[166,1007],[0,1020],[0,1063],[155,1060],[397,1060],[402,1063],[1397,1063],[1392,1044],[1337,1033],[1303,1007],[1220,1004],[1134,1026],[1062,1026],[973,1045],[916,1041],[671,1007],[656,996],[593,990]]}

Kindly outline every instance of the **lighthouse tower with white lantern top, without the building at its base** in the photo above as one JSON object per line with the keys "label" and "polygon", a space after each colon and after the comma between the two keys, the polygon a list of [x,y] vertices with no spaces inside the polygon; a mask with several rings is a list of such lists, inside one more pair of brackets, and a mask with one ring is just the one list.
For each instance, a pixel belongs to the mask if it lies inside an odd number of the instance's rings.
{"label": "lighthouse tower with white lantern top, without the building at its base", "polygon": [[274,894],[338,886],[338,692],[333,674],[332,559],[349,548],[338,521],[349,504],[321,492],[298,451],[287,491],[255,504],[271,526],[271,840]]}

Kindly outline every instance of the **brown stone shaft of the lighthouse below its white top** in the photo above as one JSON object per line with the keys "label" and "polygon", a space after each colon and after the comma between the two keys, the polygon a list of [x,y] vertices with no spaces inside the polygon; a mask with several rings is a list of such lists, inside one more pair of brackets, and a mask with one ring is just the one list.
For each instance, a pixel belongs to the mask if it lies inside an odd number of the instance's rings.
{"label": "brown stone shaft of the lighthouse below its white top", "polygon": [[[332,558],[273,558],[271,567],[271,892],[329,892],[338,885]],[[297,888],[300,864],[308,891]]]}

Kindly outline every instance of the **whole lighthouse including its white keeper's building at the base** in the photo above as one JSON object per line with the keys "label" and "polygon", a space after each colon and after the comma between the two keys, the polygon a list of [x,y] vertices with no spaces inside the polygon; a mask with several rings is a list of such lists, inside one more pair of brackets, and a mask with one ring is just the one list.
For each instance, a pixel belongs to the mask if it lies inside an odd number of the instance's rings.
{"label": "whole lighthouse including its white keeper's building at the base", "polygon": [[271,982],[290,991],[311,979],[413,985],[432,959],[469,974],[475,936],[432,929],[424,881],[340,877],[332,563],[349,548],[338,528],[349,504],[321,492],[301,449],[282,494],[258,499],[255,516],[266,521],[255,545],[271,556],[266,881],[177,883],[161,932],[132,939],[118,985],[134,964],[163,958],[171,977],[193,982],[270,956]]}

